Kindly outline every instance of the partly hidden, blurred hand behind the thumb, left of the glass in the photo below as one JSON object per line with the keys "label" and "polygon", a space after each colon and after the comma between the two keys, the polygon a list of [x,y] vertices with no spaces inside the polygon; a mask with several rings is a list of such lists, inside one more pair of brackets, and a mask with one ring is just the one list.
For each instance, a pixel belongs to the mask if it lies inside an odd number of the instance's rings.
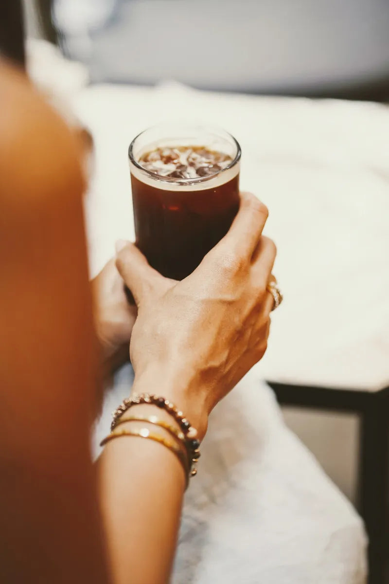
{"label": "partly hidden, blurred hand behind the thumb, left of the glass", "polygon": [[136,306],[130,304],[115,259],[111,259],[92,280],[94,324],[109,369],[128,359],[129,339],[136,318]]}

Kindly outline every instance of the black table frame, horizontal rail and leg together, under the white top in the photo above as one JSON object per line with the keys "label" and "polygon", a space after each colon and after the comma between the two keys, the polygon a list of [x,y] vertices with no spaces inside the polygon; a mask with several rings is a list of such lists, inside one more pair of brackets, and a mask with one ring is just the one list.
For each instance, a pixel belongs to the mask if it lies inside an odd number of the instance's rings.
{"label": "black table frame, horizontal rail and leg together, under the white top", "polygon": [[369,392],[268,383],[282,405],[360,416],[358,509],[369,536],[369,584],[389,584],[389,388]]}

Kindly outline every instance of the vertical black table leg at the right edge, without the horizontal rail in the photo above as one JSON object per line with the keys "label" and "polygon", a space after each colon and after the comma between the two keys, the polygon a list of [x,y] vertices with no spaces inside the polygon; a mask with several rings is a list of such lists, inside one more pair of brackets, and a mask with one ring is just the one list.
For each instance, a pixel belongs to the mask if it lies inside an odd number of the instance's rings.
{"label": "vertical black table leg at the right edge, without the horizontal rail", "polygon": [[369,584],[387,584],[389,420],[388,400],[378,394],[361,412],[359,510],[369,534]]}

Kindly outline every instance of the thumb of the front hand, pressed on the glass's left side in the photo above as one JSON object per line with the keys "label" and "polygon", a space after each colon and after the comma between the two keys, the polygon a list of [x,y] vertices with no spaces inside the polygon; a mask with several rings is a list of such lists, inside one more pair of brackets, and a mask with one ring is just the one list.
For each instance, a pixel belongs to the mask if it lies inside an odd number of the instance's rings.
{"label": "thumb of the front hand, pressed on the glass's left side", "polygon": [[149,265],[143,253],[134,244],[129,241],[118,241],[115,247],[117,270],[125,285],[131,290],[136,305],[139,305],[163,276]]}

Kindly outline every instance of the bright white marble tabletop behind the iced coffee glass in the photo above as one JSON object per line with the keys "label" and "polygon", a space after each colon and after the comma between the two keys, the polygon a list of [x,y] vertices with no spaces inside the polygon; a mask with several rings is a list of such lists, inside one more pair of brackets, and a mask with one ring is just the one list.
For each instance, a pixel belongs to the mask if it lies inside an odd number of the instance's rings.
{"label": "bright white marble tabletop behind the iced coffee glass", "polygon": [[[96,174],[87,200],[91,271],[118,237],[134,237],[127,148],[160,121],[199,120],[236,135],[241,186],[268,205],[285,293],[264,377],[377,391],[389,385],[389,109],[372,103],[263,98],[95,85],[47,43],[29,69],[92,130]],[[62,108],[62,110],[64,110]],[[69,111],[69,110],[68,110]],[[108,193],[108,194],[107,194]]]}

